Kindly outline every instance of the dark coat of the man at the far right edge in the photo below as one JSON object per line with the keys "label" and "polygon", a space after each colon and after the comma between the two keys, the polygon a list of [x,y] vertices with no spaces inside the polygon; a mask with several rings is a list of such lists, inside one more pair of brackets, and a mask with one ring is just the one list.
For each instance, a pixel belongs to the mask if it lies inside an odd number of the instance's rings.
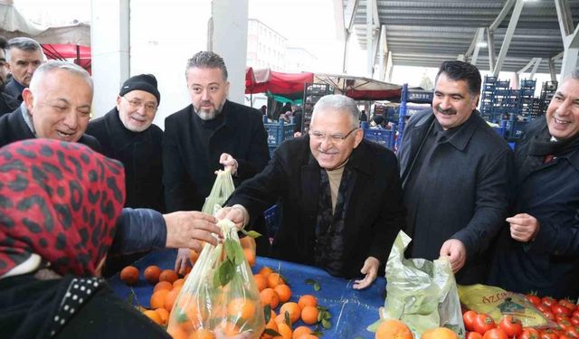
{"label": "dark coat of the man at the far right edge", "polygon": [[525,168],[530,139],[546,128],[546,118],[527,127],[526,138],[517,145],[519,174],[515,211],[539,221],[533,241],[510,237],[505,226],[497,244],[489,283],[510,291],[557,299],[579,297],[579,149],[559,155],[547,164]]}

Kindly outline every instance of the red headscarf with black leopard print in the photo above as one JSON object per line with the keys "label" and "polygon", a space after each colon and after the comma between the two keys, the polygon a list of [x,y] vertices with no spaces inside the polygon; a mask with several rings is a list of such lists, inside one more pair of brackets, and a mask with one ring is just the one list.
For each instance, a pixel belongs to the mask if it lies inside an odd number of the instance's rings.
{"label": "red headscarf with black leopard print", "polygon": [[38,254],[59,274],[94,274],[125,201],[122,165],[77,143],[0,148],[0,277]]}

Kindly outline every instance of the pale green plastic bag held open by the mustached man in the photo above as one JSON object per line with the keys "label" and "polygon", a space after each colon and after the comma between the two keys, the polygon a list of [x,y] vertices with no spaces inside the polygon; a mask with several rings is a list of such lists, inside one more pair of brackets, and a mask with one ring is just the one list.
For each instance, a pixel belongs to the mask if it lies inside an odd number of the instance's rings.
{"label": "pale green plastic bag held open by the mustached man", "polygon": [[464,338],[460,300],[451,263],[405,259],[412,239],[398,233],[386,262],[386,300],[382,318],[402,320],[417,337],[435,327],[448,327]]}

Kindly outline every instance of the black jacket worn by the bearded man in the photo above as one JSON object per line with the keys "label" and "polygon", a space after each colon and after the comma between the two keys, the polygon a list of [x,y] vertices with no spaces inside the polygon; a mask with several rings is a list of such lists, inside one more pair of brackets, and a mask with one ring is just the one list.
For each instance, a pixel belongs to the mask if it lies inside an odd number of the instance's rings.
{"label": "black jacket worn by the bearded man", "polygon": [[270,160],[259,110],[226,100],[222,114],[223,125],[209,138],[208,147],[193,105],[165,119],[163,184],[168,212],[201,211],[215,181],[214,171],[223,169],[219,164],[223,153],[237,160],[236,185],[261,172]]}

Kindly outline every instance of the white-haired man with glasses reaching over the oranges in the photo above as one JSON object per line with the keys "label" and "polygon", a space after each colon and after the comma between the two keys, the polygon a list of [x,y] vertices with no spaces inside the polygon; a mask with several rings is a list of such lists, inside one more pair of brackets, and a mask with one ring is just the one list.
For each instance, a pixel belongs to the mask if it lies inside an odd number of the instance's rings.
{"label": "white-haired man with glasses reaching over the oranges", "polygon": [[275,258],[325,268],[370,286],[384,267],[405,210],[394,154],[364,139],[356,101],[322,97],[308,136],[278,146],[270,164],[243,183],[217,217],[244,227],[278,199]]}

